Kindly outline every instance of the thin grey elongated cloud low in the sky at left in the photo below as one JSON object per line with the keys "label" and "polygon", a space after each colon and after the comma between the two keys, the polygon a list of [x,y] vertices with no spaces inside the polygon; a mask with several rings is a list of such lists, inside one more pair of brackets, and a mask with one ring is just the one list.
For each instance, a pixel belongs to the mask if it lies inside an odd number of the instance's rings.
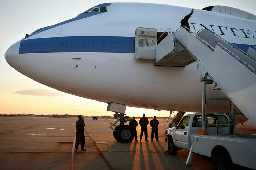
{"label": "thin grey elongated cloud low in the sky at left", "polygon": [[47,97],[58,97],[58,96],[65,96],[65,94],[52,92],[47,89],[28,89],[14,92],[21,95],[31,95],[31,96],[47,96]]}

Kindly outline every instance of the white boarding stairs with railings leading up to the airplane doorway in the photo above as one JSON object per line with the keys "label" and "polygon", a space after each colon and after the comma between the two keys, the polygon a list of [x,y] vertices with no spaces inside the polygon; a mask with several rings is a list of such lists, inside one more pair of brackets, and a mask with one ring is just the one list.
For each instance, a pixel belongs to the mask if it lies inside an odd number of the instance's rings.
{"label": "white boarding stairs with railings leading up to the airplane doorway", "polygon": [[[177,64],[175,56],[185,51],[191,57],[180,58]],[[196,61],[200,81],[209,76],[213,80],[212,89],[221,89],[256,126],[254,46],[249,47],[248,53],[245,53],[208,29],[193,33],[180,27],[157,45],[155,65],[162,65],[163,60],[165,65],[170,63],[170,66],[183,66]]]}

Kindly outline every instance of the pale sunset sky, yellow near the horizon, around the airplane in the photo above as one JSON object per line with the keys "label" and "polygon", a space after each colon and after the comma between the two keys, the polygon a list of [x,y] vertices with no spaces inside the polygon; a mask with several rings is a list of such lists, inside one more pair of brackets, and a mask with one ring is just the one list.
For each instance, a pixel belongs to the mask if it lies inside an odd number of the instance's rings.
{"label": "pale sunset sky, yellow near the horizon, around the airplane", "polygon": [[[0,114],[82,114],[113,115],[107,104],[89,100],[42,85],[22,75],[4,59],[10,45],[35,30],[76,17],[97,4],[107,2],[147,2],[202,9],[211,5],[239,8],[256,14],[256,0],[2,0],[0,1]],[[126,108],[129,116],[168,117],[169,111]]]}

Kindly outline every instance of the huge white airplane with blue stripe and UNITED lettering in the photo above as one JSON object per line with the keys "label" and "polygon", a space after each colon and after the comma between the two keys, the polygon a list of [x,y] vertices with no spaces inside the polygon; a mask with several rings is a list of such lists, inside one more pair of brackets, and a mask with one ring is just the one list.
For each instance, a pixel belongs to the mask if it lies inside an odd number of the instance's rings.
{"label": "huge white airplane with blue stripe and UNITED lettering", "polygon": [[[135,60],[137,28],[154,28],[159,38],[168,28],[180,28],[191,10],[152,3],[99,4],[75,18],[26,34],[8,48],[5,59],[41,84],[108,103],[108,110],[126,121],[126,106],[201,112],[202,83],[196,62],[176,67]],[[208,28],[247,52],[256,46],[255,20],[255,15],[243,10],[210,6],[195,9],[189,24],[193,33]],[[206,91],[208,97],[227,98],[222,91],[210,87]],[[230,111],[227,101],[212,101],[207,109],[209,113]],[[236,114],[238,122],[248,120],[237,108]]]}

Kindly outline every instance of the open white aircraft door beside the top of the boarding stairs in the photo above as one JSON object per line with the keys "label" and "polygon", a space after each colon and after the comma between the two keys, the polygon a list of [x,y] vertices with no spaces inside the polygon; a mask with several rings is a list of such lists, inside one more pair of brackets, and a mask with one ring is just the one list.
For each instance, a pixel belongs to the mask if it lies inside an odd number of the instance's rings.
{"label": "open white aircraft door beside the top of the boarding stairs", "polygon": [[157,30],[138,27],[135,32],[135,59],[155,61]]}

